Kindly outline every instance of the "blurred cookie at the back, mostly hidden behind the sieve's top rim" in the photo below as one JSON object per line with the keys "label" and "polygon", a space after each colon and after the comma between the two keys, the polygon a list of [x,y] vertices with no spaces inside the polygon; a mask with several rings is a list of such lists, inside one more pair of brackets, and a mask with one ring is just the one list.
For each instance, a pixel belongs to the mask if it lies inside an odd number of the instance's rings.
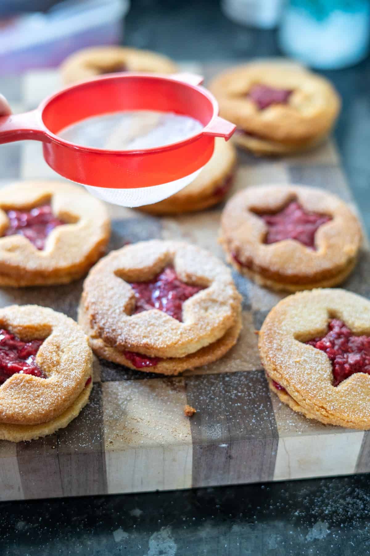
{"label": "blurred cookie at the back, mostly hidden behind the sieve's top rim", "polygon": [[175,73],[176,64],[163,54],[122,46],[94,46],[74,52],[60,66],[64,83],[122,71]]}

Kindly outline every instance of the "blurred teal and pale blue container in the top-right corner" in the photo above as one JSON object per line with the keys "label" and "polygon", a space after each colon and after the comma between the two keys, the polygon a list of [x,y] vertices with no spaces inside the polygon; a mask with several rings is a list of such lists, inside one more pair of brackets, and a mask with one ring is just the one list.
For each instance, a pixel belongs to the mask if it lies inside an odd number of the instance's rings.
{"label": "blurred teal and pale blue container in the top-right corner", "polygon": [[279,31],[282,51],[313,68],[338,69],[369,51],[370,0],[291,0]]}

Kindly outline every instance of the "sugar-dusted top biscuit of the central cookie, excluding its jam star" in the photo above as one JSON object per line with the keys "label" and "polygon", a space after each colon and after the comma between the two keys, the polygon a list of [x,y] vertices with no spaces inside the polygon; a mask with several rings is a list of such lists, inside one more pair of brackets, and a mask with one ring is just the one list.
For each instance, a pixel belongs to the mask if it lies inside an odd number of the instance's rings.
{"label": "sugar-dusted top biscuit of the central cookie, excluding its jam star", "polygon": [[[182,281],[204,287],[184,302],[183,322],[156,310],[131,315],[135,297],[128,282],[151,280],[169,264]],[[219,340],[240,309],[229,269],[207,251],[174,241],[140,242],[112,252],[90,272],[83,297],[107,344],[164,358],[183,357]]]}

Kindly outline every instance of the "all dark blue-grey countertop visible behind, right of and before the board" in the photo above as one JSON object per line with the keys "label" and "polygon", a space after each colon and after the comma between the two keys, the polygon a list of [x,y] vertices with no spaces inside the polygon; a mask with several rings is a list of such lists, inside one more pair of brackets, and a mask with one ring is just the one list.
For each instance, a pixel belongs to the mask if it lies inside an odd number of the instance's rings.
{"label": "all dark blue-grey countertop visible behind, right of and before the board", "polygon": [[[125,42],[179,60],[279,54],[274,32],[237,26],[216,0],[132,0]],[[336,140],[370,232],[370,59],[326,72],[343,97]],[[1,463],[0,463],[1,473]],[[370,554],[368,476],[0,504],[0,554]]]}

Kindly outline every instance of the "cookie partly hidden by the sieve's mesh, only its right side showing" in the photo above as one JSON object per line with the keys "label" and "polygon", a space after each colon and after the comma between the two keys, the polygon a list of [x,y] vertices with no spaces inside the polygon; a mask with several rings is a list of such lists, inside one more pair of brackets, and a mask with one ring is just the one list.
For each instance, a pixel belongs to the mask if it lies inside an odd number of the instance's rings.
{"label": "cookie partly hidden by the sieve's mesh, only its right side showing", "polygon": [[155,215],[181,214],[207,209],[221,202],[232,187],[236,164],[235,147],[231,141],[215,139],[215,150],[210,160],[193,182],[175,195],[140,207]]}

